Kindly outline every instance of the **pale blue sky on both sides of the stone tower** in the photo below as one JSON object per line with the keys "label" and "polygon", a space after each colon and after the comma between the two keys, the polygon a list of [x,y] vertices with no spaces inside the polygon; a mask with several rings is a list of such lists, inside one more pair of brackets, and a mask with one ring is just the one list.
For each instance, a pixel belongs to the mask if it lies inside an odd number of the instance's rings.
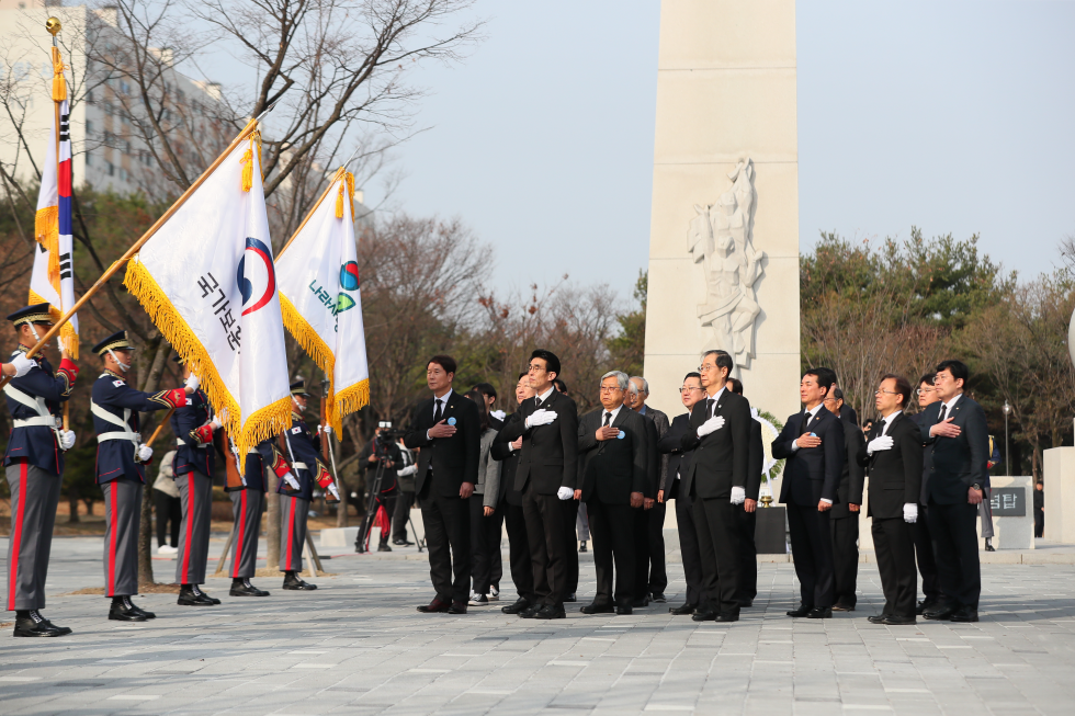
{"label": "pale blue sky on both sides of the stone tower", "polygon": [[[647,263],[659,0],[479,0],[485,41],[423,67],[387,200],[459,216],[494,285],[567,273],[627,298]],[[981,236],[1025,277],[1075,234],[1075,2],[796,9],[800,243]],[[371,203],[378,196],[367,187]]]}

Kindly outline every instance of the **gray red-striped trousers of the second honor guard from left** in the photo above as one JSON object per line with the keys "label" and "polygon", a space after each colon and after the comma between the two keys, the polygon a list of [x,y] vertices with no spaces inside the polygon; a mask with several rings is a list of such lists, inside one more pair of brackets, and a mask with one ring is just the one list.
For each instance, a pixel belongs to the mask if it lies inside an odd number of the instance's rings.
{"label": "gray red-striped trousers of the second honor guard from left", "polygon": [[138,593],[138,526],[142,524],[142,490],[133,480],[112,480],[104,492],[104,595]]}

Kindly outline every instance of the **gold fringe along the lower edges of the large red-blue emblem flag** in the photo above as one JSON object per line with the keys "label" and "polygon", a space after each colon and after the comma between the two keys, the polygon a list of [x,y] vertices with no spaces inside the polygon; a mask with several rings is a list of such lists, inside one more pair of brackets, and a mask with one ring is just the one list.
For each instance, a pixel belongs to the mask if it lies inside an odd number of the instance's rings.
{"label": "gold fringe along the lower edges of the large red-blue emblem flag", "polygon": [[[205,346],[202,345],[194,331],[176,310],[160,284],[152,277],[145,264],[138,260],[137,254],[127,262],[127,273],[123,277],[123,285],[146,309],[154,325],[160,329],[165,340],[172,344],[176,352],[197,375],[202,389],[208,395],[210,402],[216,409],[224,427],[228,429],[229,434],[235,436],[240,455],[246,455],[248,448],[254,447],[261,441],[273,437],[291,428],[291,396],[265,406],[252,416],[247,416],[240,423],[242,416],[239,404],[225,387],[224,380],[220,378],[216,365],[210,359]],[[225,411],[227,412],[225,413]]]}

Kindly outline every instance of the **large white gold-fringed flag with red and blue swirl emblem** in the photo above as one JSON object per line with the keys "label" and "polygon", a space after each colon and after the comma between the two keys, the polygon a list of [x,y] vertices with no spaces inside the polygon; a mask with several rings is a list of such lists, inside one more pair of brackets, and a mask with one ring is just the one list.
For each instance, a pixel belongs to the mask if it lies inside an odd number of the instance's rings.
{"label": "large white gold-fringed flag with red and blue swirl emblem", "polygon": [[202,175],[123,283],[201,378],[240,454],[291,427],[258,132]]}

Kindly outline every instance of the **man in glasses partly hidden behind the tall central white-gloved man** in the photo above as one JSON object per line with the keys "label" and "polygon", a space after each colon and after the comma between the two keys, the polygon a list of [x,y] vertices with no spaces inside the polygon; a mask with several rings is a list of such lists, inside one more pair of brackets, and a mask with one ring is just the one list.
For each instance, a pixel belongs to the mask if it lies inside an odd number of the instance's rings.
{"label": "man in glasses partly hidden behind the tall central white-gloved man", "polygon": [[683,378],[683,387],[679,389],[679,397],[687,412],[676,416],[668,427],[668,432],[657,443],[657,450],[668,457],[668,470],[657,492],[657,502],[665,504],[668,500],[676,500],[679,554],[683,560],[683,575],[687,578],[686,601],[680,606],[668,607],[668,613],[676,615],[693,614],[702,602],[702,557],[698,547],[698,531],[694,529],[691,498],[681,485],[682,476],[687,473],[687,466],[690,465],[691,456],[694,454],[693,451],[683,450],[683,435],[690,430],[691,410],[704,395],[702,375],[695,372],[688,373]]}

